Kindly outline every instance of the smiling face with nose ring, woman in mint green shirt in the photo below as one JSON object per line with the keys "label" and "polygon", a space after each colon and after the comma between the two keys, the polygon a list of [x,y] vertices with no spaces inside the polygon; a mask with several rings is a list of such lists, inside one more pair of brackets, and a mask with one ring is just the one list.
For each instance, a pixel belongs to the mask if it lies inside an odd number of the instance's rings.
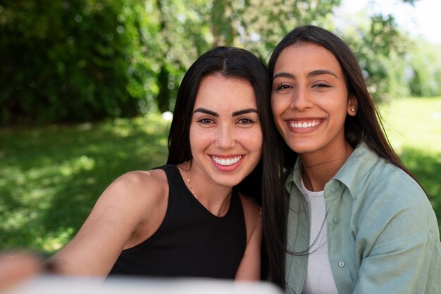
{"label": "smiling face with nose ring, woman in mint green shirt", "polygon": [[355,115],[356,99],[348,99],[342,68],[332,53],[298,43],[283,49],[275,63],[271,108],[294,152],[328,156],[347,144],[344,120]]}

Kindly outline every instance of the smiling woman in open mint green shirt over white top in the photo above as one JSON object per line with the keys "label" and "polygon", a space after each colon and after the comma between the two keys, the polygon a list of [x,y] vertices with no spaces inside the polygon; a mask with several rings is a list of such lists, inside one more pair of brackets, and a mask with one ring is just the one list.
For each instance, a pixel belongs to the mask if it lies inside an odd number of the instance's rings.
{"label": "smiling woman in open mint green shirt over white top", "polygon": [[287,197],[263,203],[271,279],[287,293],[440,293],[435,213],[347,44],[299,27],[268,67],[287,167]]}

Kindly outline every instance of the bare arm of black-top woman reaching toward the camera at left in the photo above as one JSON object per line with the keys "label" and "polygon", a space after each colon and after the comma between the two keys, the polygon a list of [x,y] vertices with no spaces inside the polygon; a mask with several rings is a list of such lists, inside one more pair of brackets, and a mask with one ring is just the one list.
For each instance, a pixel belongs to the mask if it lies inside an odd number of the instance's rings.
{"label": "bare arm of black-top woman reaching toward the camera at left", "polygon": [[130,172],[108,186],[75,238],[49,260],[56,273],[105,276],[134,239],[151,236],[166,212],[161,172]]}

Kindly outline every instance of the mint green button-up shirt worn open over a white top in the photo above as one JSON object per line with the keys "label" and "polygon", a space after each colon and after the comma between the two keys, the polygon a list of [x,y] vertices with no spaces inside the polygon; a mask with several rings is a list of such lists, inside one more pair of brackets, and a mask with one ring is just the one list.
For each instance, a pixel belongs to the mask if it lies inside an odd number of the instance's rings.
{"label": "mint green button-up shirt worn open over a white top", "polygon": [[[309,209],[301,162],[285,181],[287,293],[302,293]],[[325,185],[331,270],[338,293],[440,293],[440,233],[430,202],[408,174],[361,143]],[[302,254],[306,253],[306,254]]]}

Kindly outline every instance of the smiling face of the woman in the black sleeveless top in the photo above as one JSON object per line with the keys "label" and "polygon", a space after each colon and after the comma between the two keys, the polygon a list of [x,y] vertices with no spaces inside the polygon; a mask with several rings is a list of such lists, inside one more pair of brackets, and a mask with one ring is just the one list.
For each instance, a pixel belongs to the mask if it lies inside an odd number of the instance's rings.
{"label": "smiling face of the woman in the black sleeveless top", "polygon": [[[192,177],[235,186],[261,158],[262,131],[254,89],[242,79],[201,80],[190,124]],[[201,181],[200,181],[201,183]]]}

